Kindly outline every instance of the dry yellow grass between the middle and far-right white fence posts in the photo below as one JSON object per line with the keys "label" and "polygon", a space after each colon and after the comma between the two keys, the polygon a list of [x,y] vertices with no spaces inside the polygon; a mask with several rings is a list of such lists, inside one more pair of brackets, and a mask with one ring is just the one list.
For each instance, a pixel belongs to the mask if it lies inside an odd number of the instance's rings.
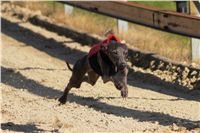
{"label": "dry yellow grass between the middle and far-right white fence posts", "polygon": [[169,33],[152,30],[150,28],[131,27],[124,37],[134,47],[151,51],[181,62],[190,62],[189,40],[183,42],[182,37],[173,36]]}

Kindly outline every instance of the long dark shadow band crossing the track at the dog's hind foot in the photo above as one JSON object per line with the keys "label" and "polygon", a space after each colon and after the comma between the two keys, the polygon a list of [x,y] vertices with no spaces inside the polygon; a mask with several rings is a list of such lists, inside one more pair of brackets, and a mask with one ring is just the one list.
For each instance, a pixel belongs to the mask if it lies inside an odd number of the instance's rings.
{"label": "long dark shadow band crossing the track at the dog's hind foot", "polygon": [[[15,72],[15,70],[1,67],[2,70],[2,83],[6,85],[13,86],[17,89],[26,89],[28,92],[33,93],[38,96],[46,97],[49,99],[56,99],[62,95],[62,92],[51,87],[46,87],[39,82],[32,79],[28,79],[23,76],[20,72]],[[115,97],[108,97],[115,98]],[[132,97],[137,99],[137,97]],[[81,97],[73,93],[68,95],[68,102],[77,103],[83,106],[88,106],[96,111],[100,111],[106,114],[113,114],[119,117],[128,117],[133,119],[138,119],[141,122],[156,122],[163,126],[172,125],[176,123],[178,126],[186,127],[187,129],[194,129],[198,127],[200,121],[191,121],[183,118],[178,118],[171,116],[169,114],[163,114],[160,112],[150,112],[141,111],[126,107],[120,107],[115,105],[109,105],[107,103],[101,102],[101,97]],[[57,102],[57,101],[56,101]],[[67,105],[66,105],[67,106]],[[64,106],[65,107],[65,106]]]}

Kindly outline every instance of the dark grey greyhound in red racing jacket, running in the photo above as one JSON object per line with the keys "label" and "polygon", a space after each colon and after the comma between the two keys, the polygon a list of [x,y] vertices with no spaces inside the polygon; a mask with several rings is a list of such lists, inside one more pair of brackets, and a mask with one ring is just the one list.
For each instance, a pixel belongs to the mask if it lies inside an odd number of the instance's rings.
{"label": "dark grey greyhound in red racing jacket, running", "polygon": [[127,56],[127,46],[111,34],[107,39],[93,46],[89,54],[75,63],[73,69],[66,62],[72,71],[72,76],[63,95],[59,98],[59,102],[66,103],[71,88],[80,88],[82,82],[93,86],[100,76],[104,83],[112,81],[115,87],[121,91],[121,96],[126,98],[128,96]]}

